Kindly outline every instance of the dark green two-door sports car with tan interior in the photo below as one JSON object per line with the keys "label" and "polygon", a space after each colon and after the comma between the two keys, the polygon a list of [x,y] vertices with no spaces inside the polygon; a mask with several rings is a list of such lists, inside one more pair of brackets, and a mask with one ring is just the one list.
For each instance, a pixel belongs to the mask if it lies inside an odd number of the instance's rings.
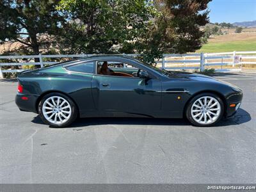
{"label": "dark green two-door sports car with tan interior", "polygon": [[128,56],[92,56],[22,72],[16,104],[51,127],[77,116],[188,118],[198,126],[236,113],[242,91],[212,77],[168,72]]}

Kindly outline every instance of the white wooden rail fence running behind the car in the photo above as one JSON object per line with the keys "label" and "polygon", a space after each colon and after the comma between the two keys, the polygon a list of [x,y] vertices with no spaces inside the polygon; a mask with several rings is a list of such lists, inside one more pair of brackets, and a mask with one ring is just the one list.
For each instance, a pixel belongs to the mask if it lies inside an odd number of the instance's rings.
{"label": "white wooden rail fence running behind the car", "polygon": [[[127,54],[137,56],[136,54]],[[92,56],[92,54],[68,54],[68,55],[29,55],[29,56],[0,56],[0,78],[4,73],[22,72],[24,65],[52,65],[58,61],[56,59],[82,58]],[[38,58],[39,62],[35,62]],[[238,61],[237,61],[238,58]],[[24,61],[25,59],[25,61]],[[51,61],[45,61],[49,60]],[[3,61],[5,60],[5,61]],[[7,60],[7,62],[6,62]],[[17,60],[8,62],[8,60]],[[249,60],[249,61],[248,61]],[[256,51],[239,52],[218,52],[218,53],[189,53],[189,54],[163,54],[163,59],[156,61],[157,67],[166,70],[200,70],[205,68],[215,68],[218,72],[241,71],[242,65],[256,65]],[[18,69],[3,69],[3,66],[19,66]]]}

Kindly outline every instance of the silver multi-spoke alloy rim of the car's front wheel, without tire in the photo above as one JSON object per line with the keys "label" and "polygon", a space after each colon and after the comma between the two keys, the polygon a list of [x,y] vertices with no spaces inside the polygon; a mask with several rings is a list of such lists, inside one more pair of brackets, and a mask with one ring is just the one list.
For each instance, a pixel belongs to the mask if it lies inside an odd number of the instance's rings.
{"label": "silver multi-spoke alloy rim of the car's front wheel, without tire", "polygon": [[191,108],[191,116],[198,124],[212,124],[218,120],[220,114],[220,102],[211,96],[200,97]]}

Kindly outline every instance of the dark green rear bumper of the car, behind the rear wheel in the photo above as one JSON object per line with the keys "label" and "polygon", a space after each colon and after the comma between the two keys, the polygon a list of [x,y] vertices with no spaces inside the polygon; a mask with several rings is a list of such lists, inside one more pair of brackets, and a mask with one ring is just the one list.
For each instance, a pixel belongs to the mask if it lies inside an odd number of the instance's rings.
{"label": "dark green rear bumper of the car, behind the rear wheel", "polygon": [[[22,97],[27,97],[27,100],[22,99]],[[37,95],[25,95],[22,93],[17,93],[15,97],[15,103],[17,104],[20,111],[29,111],[37,113],[36,109],[36,100],[38,99]]]}

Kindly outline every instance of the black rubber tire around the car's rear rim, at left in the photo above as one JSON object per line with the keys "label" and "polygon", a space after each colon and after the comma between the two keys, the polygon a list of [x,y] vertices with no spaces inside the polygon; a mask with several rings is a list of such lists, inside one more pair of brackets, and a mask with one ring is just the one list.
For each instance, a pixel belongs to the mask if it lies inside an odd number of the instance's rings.
{"label": "black rubber tire around the car's rear rim, at left", "polygon": [[[62,97],[63,99],[67,100],[68,104],[71,107],[71,115],[68,118],[68,120],[66,122],[63,122],[62,124],[54,124],[52,122],[49,122],[49,120],[47,120],[43,114],[43,104],[45,102],[45,100],[49,99],[50,97]],[[44,95],[44,97],[40,100],[39,104],[38,104],[38,113],[40,118],[42,119],[42,121],[47,124],[50,125],[50,127],[56,127],[56,128],[62,128],[62,127],[67,127],[68,125],[72,124],[72,122],[74,122],[74,120],[76,120],[77,118],[77,107],[76,104],[74,104],[74,102],[72,101],[72,99],[70,99],[69,97],[67,97],[66,95],[62,94],[62,93],[49,93],[47,95]]]}

